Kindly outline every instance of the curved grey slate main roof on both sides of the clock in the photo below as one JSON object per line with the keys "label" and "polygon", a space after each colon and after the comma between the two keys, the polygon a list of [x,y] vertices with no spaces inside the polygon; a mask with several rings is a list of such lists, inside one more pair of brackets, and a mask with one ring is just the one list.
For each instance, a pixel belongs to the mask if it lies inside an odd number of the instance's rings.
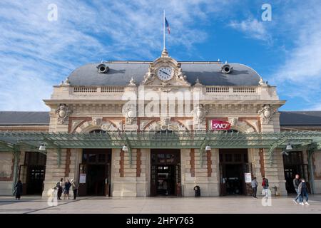
{"label": "curved grey slate main roof on both sides of the clock", "polygon": [[[151,62],[107,61],[108,73],[98,73],[101,63],[89,63],[76,68],[68,76],[71,86],[126,86],[131,77],[136,83],[143,81]],[[192,85],[196,78],[204,86],[258,86],[260,76],[252,68],[239,63],[228,63],[231,73],[220,72],[223,63],[218,62],[179,62],[187,80]]]}

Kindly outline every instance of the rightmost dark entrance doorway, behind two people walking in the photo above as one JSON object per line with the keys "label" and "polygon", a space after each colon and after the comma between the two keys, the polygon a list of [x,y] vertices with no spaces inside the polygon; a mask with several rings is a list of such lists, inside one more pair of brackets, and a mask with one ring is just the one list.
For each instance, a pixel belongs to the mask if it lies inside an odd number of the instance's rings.
{"label": "rightmost dark entrance doorway, behind two people walking", "polygon": [[300,175],[300,178],[305,179],[310,191],[308,165],[303,163],[302,151],[291,151],[289,155],[283,155],[285,188],[287,193],[296,193],[293,186],[295,175]]}

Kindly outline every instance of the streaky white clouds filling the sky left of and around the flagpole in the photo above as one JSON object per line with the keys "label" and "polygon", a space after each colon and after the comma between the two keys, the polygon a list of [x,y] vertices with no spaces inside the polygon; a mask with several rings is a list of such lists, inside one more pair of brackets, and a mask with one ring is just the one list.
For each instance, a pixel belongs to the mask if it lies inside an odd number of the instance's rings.
{"label": "streaky white clouds filling the sky left of and around the flagpole", "polygon": [[[48,21],[49,4],[58,21]],[[165,6],[168,46],[193,49],[207,33],[194,26],[226,1],[0,2],[0,110],[46,110],[51,86],[84,63],[153,59],[162,48]],[[190,10],[193,9],[193,10]]]}

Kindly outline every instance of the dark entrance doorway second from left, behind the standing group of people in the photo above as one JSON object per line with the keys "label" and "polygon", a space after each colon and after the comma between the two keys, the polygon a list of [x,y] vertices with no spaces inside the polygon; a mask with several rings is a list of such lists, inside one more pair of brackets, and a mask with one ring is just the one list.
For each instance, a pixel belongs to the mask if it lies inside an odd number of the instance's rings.
{"label": "dark entrance doorway second from left, behind the standing group of people", "polygon": [[111,149],[84,149],[79,165],[79,196],[111,192]]}

